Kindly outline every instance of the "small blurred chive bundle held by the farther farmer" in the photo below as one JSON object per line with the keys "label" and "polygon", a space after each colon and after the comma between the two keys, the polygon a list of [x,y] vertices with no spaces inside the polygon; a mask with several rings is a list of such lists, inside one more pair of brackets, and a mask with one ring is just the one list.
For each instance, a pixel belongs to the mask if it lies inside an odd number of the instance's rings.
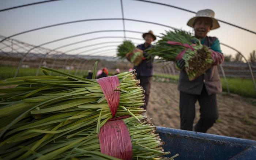
{"label": "small blurred chive bundle held by the farther farmer", "polygon": [[127,58],[135,66],[138,66],[143,59],[143,51],[136,49],[131,41],[124,41],[117,48],[117,57]]}

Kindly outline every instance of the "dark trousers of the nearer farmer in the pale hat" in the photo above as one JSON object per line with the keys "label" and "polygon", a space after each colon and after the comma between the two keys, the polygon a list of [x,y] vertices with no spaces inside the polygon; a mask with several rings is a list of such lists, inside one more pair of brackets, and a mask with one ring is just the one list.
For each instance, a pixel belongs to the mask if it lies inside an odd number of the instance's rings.
{"label": "dark trousers of the nearer farmer in the pale hat", "polygon": [[216,94],[208,95],[206,88],[203,87],[201,95],[191,95],[180,92],[180,128],[192,130],[195,118],[195,103],[198,100],[200,105],[200,119],[195,125],[196,132],[206,131],[218,119]]}

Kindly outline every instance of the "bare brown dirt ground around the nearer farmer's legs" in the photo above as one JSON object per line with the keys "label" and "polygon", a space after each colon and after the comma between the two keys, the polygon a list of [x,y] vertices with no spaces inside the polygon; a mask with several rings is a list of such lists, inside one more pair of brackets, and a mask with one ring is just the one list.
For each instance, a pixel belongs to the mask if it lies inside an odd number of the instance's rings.
{"label": "bare brown dirt ground around the nearer farmer's legs", "polygon": [[[207,133],[256,140],[256,106],[253,99],[217,95],[219,119]],[[176,83],[152,82],[147,116],[154,125],[180,129],[179,91]],[[199,120],[199,103],[196,118]]]}

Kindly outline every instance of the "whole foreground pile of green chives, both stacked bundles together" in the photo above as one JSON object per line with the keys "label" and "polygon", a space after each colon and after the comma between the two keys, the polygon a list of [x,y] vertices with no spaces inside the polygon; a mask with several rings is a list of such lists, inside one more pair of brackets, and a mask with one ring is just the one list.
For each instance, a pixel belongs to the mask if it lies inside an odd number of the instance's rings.
{"label": "whole foreground pile of green chives, both stacked bundles together", "polygon": [[[99,152],[97,133],[112,115],[97,81],[42,69],[46,76],[0,81],[0,86],[18,85],[0,89],[5,93],[0,96],[0,157],[115,159]],[[49,76],[47,71],[68,77]],[[144,91],[135,76],[134,71],[117,75],[120,102],[116,117],[132,116],[123,121],[131,136],[133,159],[159,159],[169,152],[163,152],[155,126],[139,115],[144,111],[138,108],[144,104]]]}

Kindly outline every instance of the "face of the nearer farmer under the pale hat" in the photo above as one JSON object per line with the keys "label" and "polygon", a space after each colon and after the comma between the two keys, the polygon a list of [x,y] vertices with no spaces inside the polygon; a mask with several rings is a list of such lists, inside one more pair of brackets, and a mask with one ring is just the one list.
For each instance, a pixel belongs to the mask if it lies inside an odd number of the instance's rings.
{"label": "face of the nearer farmer under the pale hat", "polygon": [[207,18],[207,17],[197,18],[194,24],[195,37],[200,39],[206,37],[211,27],[212,27],[212,20],[210,18]]}

